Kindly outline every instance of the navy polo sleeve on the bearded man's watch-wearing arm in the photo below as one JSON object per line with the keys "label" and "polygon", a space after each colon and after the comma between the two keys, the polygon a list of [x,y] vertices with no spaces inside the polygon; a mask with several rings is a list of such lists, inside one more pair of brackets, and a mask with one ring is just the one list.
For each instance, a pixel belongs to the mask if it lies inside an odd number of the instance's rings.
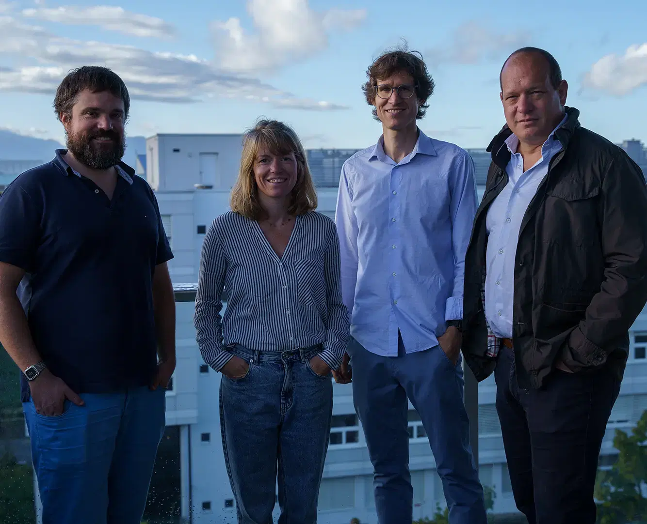
{"label": "navy polo sleeve on the bearded man's watch-wearing arm", "polygon": [[36,270],[42,206],[16,182],[0,195],[0,262]]}

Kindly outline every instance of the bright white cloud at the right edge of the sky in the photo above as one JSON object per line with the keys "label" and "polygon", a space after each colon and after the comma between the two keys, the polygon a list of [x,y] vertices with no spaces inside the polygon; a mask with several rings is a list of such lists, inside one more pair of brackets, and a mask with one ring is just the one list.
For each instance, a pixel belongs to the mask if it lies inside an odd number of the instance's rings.
{"label": "bright white cloud at the right edge of the sky", "polygon": [[591,66],[583,87],[622,96],[647,85],[647,43],[631,45],[624,55],[608,54]]}

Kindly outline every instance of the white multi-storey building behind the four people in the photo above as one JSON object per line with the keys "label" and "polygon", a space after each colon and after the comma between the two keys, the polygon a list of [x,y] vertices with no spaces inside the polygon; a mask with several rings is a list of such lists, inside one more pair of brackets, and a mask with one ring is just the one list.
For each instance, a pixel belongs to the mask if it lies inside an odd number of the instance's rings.
{"label": "white multi-storey building behind the four people", "polygon": [[[215,216],[228,210],[229,192],[236,180],[241,154],[241,136],[160,134],[148,139],[146,149],[146,178],[157,191],[175,254],[169,263],[171,277],[175,283],[196,282],[204,233]],[[334,216],[336,189],[318,191],[319,211]],[[634,330],[621,396],[602,447],[603,465],[610,464],[613,457],[613,430],[630,428],[647,408],[647,314],[641,315]],[[221,446],[220,375],[205,366],[199,355],[193,302],[177,304],[177,356],[166,417],[169,426],[179,427],[181,514],[195,524],[234,523],[234,497]],[[516,508],[494,399],[494,379],[490,377],[479,384],[480,476],[484,485],[496,490],[494,512],[512,516]],[[351,386],[334,385],[333,426],[320,494],[320,522],[345,524],[356,517],[362,523],[374,524],[377,518],[372,467],[353,410]],[[444,506],[443,490],[424,430],[413,409],[410,435],[413,515],[431,517],[437,504]]]}

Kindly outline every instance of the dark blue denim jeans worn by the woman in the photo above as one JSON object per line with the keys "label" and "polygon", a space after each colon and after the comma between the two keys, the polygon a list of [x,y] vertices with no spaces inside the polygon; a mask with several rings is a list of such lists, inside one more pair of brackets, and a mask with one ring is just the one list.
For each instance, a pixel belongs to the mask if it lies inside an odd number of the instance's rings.
{"label": "dark blue denim jeans worn by the woman", "polygon": [[[223,451],[239,524],[271,524],[278,472],[280,524],[314,524],[333,414],[331,375],[314,373],[320,351],[232,353],[247,375],[220,383]],[[278,466],[278,470],[277,470]]]}

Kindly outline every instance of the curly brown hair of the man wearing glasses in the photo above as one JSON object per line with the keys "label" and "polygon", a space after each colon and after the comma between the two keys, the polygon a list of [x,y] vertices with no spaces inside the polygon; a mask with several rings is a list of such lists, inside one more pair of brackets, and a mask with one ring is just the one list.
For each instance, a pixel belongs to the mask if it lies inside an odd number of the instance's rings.
{"label": "curly brown hair of the man wearing glasses", "polygon": [[[375,87],[378,79],[389,78],[399,72],[406,72],[413,78],[413,83],[416,86],[415,94],[419,102],[418,114],[415,118],[420,119],[424,117],[429,107],[427,100],[433,94],[434,83],[422,60],[422,54],[418,51],[410,51],[406,47],[382,54],[366,70],[368,80],[362,86],[366,102],[368,105],[375,105],[375,96],[377,96]],[[375,107],[373,108],[373,117],[375,120],[380,120]]]}

